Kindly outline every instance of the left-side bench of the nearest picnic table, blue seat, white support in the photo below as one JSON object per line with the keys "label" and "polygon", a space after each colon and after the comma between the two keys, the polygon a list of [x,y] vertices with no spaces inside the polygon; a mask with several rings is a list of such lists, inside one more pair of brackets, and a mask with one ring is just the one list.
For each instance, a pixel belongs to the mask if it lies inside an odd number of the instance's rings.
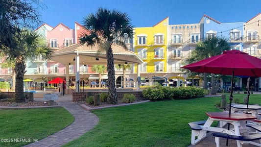
{"label": "left-side bench of the nearest picnic table, blue seat, white support", "polygon": [[[199,135],[199,132],[202,128],[199,125],[204,125],[207,121],[191,122],[188,123],[191,128],[191,144],[195,145],[199,140],[196,140],[196,137]],[[206,136],[206,135],[204,135]]]}

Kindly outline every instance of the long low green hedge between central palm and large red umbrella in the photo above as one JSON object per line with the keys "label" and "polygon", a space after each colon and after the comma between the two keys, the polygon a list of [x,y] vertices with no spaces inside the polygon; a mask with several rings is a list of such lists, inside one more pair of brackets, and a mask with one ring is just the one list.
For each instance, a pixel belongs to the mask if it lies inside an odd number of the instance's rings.
{"label": "long low green hedge between central palm and large red umbrella", "polygon": [[148,88],[142,92],[142,96],[150,100],[200,98],[207,94],[207,90],[193,86],[178,88],[160,87],[159,89]]}

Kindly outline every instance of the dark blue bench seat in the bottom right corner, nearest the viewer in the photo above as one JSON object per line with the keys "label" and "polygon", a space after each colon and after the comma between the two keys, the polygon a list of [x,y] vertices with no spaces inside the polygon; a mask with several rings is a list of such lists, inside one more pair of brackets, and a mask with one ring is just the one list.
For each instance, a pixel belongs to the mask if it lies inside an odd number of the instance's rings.
{"label": "dark blue bench seat in the bottom right corner, nearest the viewer", "polygon": [[[232,139],[232,140],[244,141],[244,142],[247,142],[247,143],[253,144],[253,145],[257,145],[257,143],[251,142],[251,141],[261,139],[261,134],[252,134],[252,135],[247,135],[247,136],[237,136],[237,135],[229,135],[229,134],[226,134],[226,133],[212,133],[211,135],[215,137],[216,147],[219,147],[219,138],[220,137]],[[240,147],[242,147],[241,144],[240,144]]]}

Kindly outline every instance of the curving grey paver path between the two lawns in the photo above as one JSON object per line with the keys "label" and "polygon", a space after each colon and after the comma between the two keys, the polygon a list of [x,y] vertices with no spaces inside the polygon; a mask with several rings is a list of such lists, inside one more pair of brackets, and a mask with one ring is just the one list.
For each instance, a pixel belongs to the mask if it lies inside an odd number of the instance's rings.
{"label": "curving grey paver path between the two lawns", "polygon": [[60,147],[79,138],[94,128],[99,121],[94,113],[84,110],[72,101],[59,101],[58,104],[66,108],[74,116],[74,122],[59,132],[24,147]]}

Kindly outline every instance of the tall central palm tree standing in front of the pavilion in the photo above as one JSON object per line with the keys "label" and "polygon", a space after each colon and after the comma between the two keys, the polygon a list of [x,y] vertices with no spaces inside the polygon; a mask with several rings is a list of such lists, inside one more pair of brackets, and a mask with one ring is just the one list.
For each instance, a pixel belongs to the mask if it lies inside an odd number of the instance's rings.
{"label": "tall central palm tree standing in front of the pavilion", "polygon": [[133,37],[133,25],[126,13],[106,8],[98,8],[96,13],[91,13],[83,19],[83,28],[88,32],[80,37],[80,43],[87,46],[99,46],[105,49],[108,71],[109,102],[117,104],[117,93],[115,86],[115,69],[112,45],[117,43],[124,47],[124,38]]}

